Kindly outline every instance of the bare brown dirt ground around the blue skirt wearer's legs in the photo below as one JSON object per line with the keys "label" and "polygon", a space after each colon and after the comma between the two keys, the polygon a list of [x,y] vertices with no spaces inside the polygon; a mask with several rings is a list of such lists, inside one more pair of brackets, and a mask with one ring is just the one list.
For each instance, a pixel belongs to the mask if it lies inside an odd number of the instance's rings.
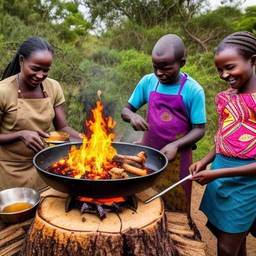
{"label": "bare brown dirt ground around the blue skirt wearer's legs", "polygon": [[[205,227],[207,218],[205,215],[198,210],[201,197],[203,194],[205,186],[201,186],[196,182],[193,182],[192,188],[192,198],[191,198],[191,217],[195,222],[202,240],[207,246],[207,256],[216,256],[216,238],[211,234],[211,232]],[[256,255],[256,238],[251,234],[247,236],[247,256]]]}

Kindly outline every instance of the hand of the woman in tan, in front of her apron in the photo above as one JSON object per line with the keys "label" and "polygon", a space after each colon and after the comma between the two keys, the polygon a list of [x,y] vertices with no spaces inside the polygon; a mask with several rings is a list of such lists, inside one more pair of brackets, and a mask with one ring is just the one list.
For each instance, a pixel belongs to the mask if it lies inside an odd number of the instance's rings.
{"label": "hand of the woman in tan, in front of her apron", "polygon": [[45,144],[41,137],[49,137],[49,134],[43,131],[20,130],[18,134],[27,148],[32,149],[34,152],[38,152],[44,148]]}

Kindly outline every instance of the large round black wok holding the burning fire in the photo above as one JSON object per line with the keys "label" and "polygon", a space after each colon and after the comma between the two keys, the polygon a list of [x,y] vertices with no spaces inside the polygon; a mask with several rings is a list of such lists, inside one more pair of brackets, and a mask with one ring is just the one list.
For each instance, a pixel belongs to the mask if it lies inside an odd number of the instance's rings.
{"label": "large round black wok holding the burning fire", "polygon": [[147,154],[145,166],[155,170],[155,172],[145,176],[133,176],[123,179],[92,180],[65,177],[45,171],[49,165],[60,158],[67,156],[67,152],[71,145],[75,145],[76,148],[79,148],[81,143],[70,142],[47,147],[36,153],[33,158],[33,163],[37,172],[44,182],[50,187],[68,193],[69,195],[111,198],[139,193],[151,187],[160,179],[168,163],[168,160],[163,153],[151,147],[131,143],[112,142],[112,146],[119,154],[136,155],[142,150],[145,151]]}

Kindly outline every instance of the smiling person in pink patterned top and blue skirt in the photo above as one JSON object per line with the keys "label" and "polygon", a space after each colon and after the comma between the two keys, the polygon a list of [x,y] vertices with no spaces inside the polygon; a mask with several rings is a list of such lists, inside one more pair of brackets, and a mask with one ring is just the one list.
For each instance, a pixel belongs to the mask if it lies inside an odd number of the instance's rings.
{"label": "smiling person in pink patterned top and blue skirt", "polygon": [[218,256],[243,256],[246,235],[256,236],[256,37],[246,31],[228,35],[214,61],[230,88],[215,98],[215,147],[189,170],[192,180],[207,184],[199,209],[217,238]]}

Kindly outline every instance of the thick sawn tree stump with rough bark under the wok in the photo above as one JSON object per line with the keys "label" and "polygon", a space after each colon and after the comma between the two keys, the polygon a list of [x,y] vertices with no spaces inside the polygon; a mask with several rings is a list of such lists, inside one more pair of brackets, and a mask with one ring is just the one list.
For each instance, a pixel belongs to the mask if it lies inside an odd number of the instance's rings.
{"label": "thick sawn tree stump with rough bark under the wok", "polygon": [[138,199],[136,211],[108,212],[100,220],[76,208],[65,212],[67,195],[50,190],[36,211],[20,256],[176,255],[161,198],[147,204]]}

